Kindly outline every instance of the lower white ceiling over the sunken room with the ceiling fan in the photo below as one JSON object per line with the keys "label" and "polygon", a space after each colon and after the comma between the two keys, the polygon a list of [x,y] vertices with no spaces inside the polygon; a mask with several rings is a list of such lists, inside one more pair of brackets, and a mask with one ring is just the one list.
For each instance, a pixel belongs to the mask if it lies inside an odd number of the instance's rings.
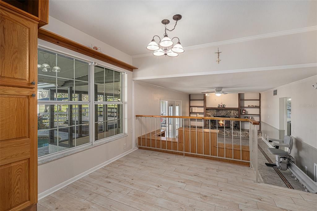
{"label": "lower white ceiling over the sunken room with the ceiling fan", "polygon": [[257,93],[314,75],[317,75],[317,67],[146,79],[138,81],[189,94],[215,91],[214,88],[216,87],[223,87],[224,92]]}

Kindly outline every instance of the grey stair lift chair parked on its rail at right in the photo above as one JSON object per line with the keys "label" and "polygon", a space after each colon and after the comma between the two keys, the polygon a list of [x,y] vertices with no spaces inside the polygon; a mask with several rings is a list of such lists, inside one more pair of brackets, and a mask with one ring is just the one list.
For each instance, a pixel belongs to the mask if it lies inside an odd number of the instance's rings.
{"label": "grey stair lift chair parked on its rail at right", "polygon": [[[269,142],[272,142],[274,148],[268,148],[268,151],[275,155],[276,164],[265,163],[268,167],[277,168],[285,171],[287,169],[288,162],[293,161],[291,151],[293,148],[293,138],[291,136],[284,136],[283,140],[268,138]],[[288,151],[279,149],[280,147],[287,147]]]}

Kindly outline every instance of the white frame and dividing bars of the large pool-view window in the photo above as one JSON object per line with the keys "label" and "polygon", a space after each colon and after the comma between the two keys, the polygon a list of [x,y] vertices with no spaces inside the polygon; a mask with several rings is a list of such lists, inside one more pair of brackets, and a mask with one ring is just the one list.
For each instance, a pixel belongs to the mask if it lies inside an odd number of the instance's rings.
{"label": "white frame and dividing bars of the large pool-view window", "polygon": [[[125,131],[125,125],[126,125],[126,117],[125,117],[125,104],[126,104],[126,102],[125,102],[125,77],[126,76],[125,76],[125,74],[127,74],[126,71],[122,71],[122,70],[119,70],[118,68],[110,67],[110,66],[107,66],[104,64],[98,64],[98,66],[100,66],[100,67],[104,67],[104,68],[111,69],[113,71],[117,71],[117,72],[122,73],[121,74],[121,87],[120,87],[121,101],[120,102],[119,101],[107,101],[107,102],[94,101],[94,67],[97,66],[97,63],[94,62],[93,59],[90,59],[90,60],[83,59],[79,56],[75,56],[73,54],[68,54],[68,53],[65,53],[65,52],[62,52],[59,50],[55,50],[53,48],[49,48],[49,47],[42,46],[42,45],[38,45],[37,49],[49,51],[51,53],[59,54],[59,55],[66,56],[66,57],[70,57],[70,58],[78,60],[78,61],[87,62],[89,65],[89,70],[88,70],[88,95],[89,95],[89,97],[88,97],[88,101],[37,100],[37,105],[59,105],[59,104],[62,104],[62,105],[89,105],[89,123],[88,123],[88,125],[89,125],[89,142],[86,144],[81,144],[79,146],[74,146],[74,147],[71,147],[71,148],[68,148],[65,150],[56,151],[53,153],[49,153],[47,155],[43,155],[43,156],[38,157],[38,159],[41,159],[41,160],[46,159],[46,158],[50,159],[51,157],[61,158],[58,155],[62,155],[62,154],[69,155],[69,153],[71,153],[72,151],[78,151],[81,149],[84,150],[85,148],[90,148],[93,145],[105,144],[105,143],[117,140],[118,138],[124,137],[126,135],[126,131]],[[60,78],[60,77],[55,76],[52,78],[55,78],[57,80],[57,78]],[[75,78],[73,80],[75,81]],[[81,80],[79,80],[79,81],[81,81]],[[36,90],[36,93],[37,93],[37,91],[38,90]],[[117,135],[113,135],[110,137],[106,137],[106,138],[103,138],[100,140],[95,140],[94,106],[96,104],[119,104],[119,105],[122,105],[122,113],[121,113],[122,133],[117,134]],[[38,107],[37,107],[36,114],[38,115]]]}

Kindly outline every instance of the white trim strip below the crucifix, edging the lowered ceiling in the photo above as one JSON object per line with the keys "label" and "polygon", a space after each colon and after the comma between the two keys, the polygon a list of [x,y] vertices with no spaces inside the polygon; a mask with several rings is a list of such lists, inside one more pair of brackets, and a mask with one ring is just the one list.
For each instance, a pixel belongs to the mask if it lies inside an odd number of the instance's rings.
{"label": "white trim strip below the crucifix, edging the lowered ceiling", "polygon": [[317,63],[305,63],[305,64],[279,65],[279,66],[269,66],[269,67],[253,67],[253,68],[245,68],[245,69],[218,70],[218,71],[197,72],[197,73],[183,73],[183,74],[171,74],[171,75],[134,77],[134,78],[132,78],[132,80],[175,78],[175,77],[184,77],[184,76],[214,75],[214,74],[226,74],[226,73],[242,73],[242,72],[254,72],[254,71],[264,71],[264,70],[282,70],[282,69],[305,68],[305,67],[317,67]]}

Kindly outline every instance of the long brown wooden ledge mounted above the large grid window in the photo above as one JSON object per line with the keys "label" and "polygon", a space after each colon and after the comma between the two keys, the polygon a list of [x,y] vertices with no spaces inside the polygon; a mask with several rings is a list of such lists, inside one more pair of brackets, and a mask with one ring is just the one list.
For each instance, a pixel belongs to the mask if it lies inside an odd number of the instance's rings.
{"label": "long brown wooden ledge mounted above the large grid window", "polygon": [[38,29],[38,38],[41,40],[45,40],[47,42],[54,43],[54,44],[59,45],[61,47],[68,48],[70,50],[84,54],[86,56],[90,56],[92,58],[107,62],[107,63],[112,64],[114,66],[121,67],[125,70],[133,71],[134,69],[138,69],[137,67],[134,67],[133,65],[130,65],[126,62],[115,59],[115,58],[108,56],[106,54],[103,54],[97,50],[94,50],[92,48],[88,48],[87,46],[81,45],[78,42],[74,42],[72,40],[69,40],[65,37],[62,37],[60,35],[57,35],[53,32],[50,32],[50,31],[42,29],[42,28]]}

